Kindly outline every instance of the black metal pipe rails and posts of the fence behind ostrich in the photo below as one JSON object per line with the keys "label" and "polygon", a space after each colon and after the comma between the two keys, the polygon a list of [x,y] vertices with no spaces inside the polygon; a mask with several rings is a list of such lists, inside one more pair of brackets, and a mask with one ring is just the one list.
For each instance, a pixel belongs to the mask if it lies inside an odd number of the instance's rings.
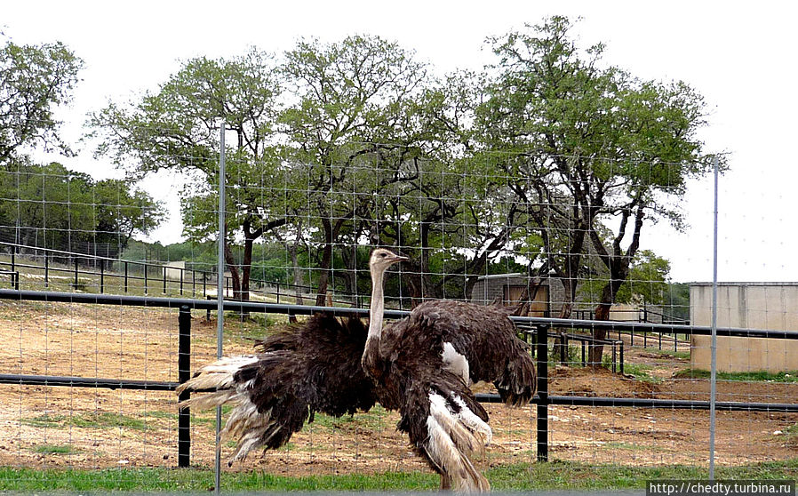
{"label": "black metal pipe rails and posts of the fence behind ostrich", "polygon": [[[190,344],[191,344],[191,310],[216,309],[217,302],[209,300],[182,299],[182,298],[156,298],[149,296],[108,295],[108,294],[81,294],[71,292],[41,292],[25,290],[0,289],[0,300],[17,301],[48,301],[87,303],[99,305],[124,305],[135,307],[175,308],[178,310],[179,350],[178,350],[178,376],[179,382],[188,380],[191,375],[189,370]],[[336,316],[367,316],[368,309],[364,308],[339,308],[318,307],[306,305],[290,305],[278,303],[256,303],[251,301],[225,301],[225,310],[249,313],[275,313],[290,315],[312,315],[317,312],[327,312]],[[407,315],[403,310],[386,310],[387,318],[398,318]],[[586,397],[586,396],[549,396],[548,394],[548,357],[549,338],[562,337],[563,332],[551,332],[551,329],[571,329],[592,331],[603,329],[607,332],[663,332],[680,333],[686,335],[709,335],[712,330],[705,326],[685,326],[675,324],[640,324],[610,321],[592,321],[578,319],[555,319],[532,316],[512,317],[519,327],[519,331],[526,334],[534,343],[536,364],[538,367],[538,394],[532,403],[537,406],[537,449],[538,460],[548,460],[548,406],[549,405],[577,405],[577,406],[604,406],[604,407],[644,407],[666,409],[692,409],[708,410],[710,402],[696,400],[656,399],[656,398],[629,398],[629,397]],[[718,328],[718,336],[738,336],[748,338],[776,338],[798,340],[798,332],[770,331],[763,329],[738,329]],[[569,334],[570,339],[586,338],[581,334]],[[587,342],[587,341],[585,341]],[[611,341],[608,341],[611,342]],[[619,348],[623,349],[623,348]],[[80,388],[125,388],[125,389],[150,389],[160,391],[173,391],[179,383],[168,381],[104,379],[84,377],[63,377],[44,375],[23,375],[0,373],[0,384],[36,385],[36,386],[62,386]],[[499,403],[498,395],[478,394],[477,399],[486,403]],[[180,396],[180,400],[188,399],[188,392]],[[715,408],[722,411],[743,412],[798,412],[798,404],[783,403],[748,403],[748,402],[716,402]],[[178,419],[178,466],[188,467],[190,453],[190,415],[188,409],[180,413]]]}

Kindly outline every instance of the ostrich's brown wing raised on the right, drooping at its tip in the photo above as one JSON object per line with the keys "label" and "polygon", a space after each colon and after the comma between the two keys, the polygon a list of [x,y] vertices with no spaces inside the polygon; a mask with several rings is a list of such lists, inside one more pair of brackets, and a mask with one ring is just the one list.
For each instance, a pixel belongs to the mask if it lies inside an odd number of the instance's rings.
{"label": "ostrich's brown wing raised on the right, drooping at its tip", "polygon": [[[454,300],[430,300],[411,312],[411,320],[437,332],[457,355],[447,364],[465,362],[473,382],[492,382],[507,404],[523,405],[535,394],[536,374],[530,347],[519,340],[508,318],[512,308],[481,306]],[[458,362],[454,362],[457,364]],[[463,365],[459,365],[462,370]]]}

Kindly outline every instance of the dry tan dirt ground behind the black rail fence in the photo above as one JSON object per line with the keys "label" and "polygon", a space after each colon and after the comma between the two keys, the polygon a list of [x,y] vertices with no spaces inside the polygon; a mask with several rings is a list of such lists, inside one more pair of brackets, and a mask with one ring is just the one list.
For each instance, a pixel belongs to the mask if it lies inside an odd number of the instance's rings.
{"label": "dry tan dirt ground behind the black rail fence", "polygon": [[[275,319],[282,317],[275,316]],[[232,319],[230,319],[232,320]],[[177,310],[0,302],[0,373],[176,381]],[[192,318],[192,369],[216,351],[216,324]],[[248,352],[257,324],[231,322],[226,354]],[[635,344],[639,344],[635,341]],[[607,370],[558,366],[552,395],[706,399],[706,380],[674,379],[687,359],[628,349],[655,381]],[[481,386],[482,390],[489,390]],[[722,382],[719,401],[794,403],[798,384]],[[536,459],[536,408],[487,404],[493,443],[481,468]],[[648,408],[549,410],[550,460],[587,463],[706,465],[709,414]],[[798,414],[718,412],[716,461],[750,464],[798,457]],[[427,471],[396,432],[398,416],[378,408],[354,417],[318,415],[290,444],[230,470],[286,475]],[[192,465],[211,468],[214,414],[195,412]],[[223,444],[229,455],[231,444]],[[172,393],[0,384],[0,466],[175,467],[177,407]]]}

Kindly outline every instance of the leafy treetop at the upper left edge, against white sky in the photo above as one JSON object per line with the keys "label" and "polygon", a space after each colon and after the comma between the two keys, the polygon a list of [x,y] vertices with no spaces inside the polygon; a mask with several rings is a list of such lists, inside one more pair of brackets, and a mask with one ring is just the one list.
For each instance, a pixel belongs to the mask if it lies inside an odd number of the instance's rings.
{"label": "leafy treetop at the upper left edge, against white sky", "polygon": [[9,166],[20,148],[35,143],[70,153],[53,110],[72,99],[83,67],[83,60],[60,43],[6,42],[0,49],[0,166]]}

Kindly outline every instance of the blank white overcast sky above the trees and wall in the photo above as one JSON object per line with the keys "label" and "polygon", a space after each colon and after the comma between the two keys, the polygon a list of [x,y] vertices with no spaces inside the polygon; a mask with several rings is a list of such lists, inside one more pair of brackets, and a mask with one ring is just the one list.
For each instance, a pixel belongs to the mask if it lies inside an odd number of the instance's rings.
{"label": "blank white overcast sky above the trees and wall", "polygon": [[[579,42],[605,43],[606,62],[646,79],[681,79],[706,97],[706,150],[730,153],[731,171],[720,181],[719,279],[798,281],[798,29],[791,4],[26,0],[3,2],[0,31],[17,44],[61,41],[84,59],[73,105],[60,113],[65,137],[76,140],[87,112],[156,89],[180,60],[230,57],[251,46],[283,52],[303,36],[331,42],[369,34],[400,42],[443,73],[490,61],[486,36],[547,15],[580,16]],[[115,174],[89,153],[62,162],[99,178]],[[173,184],[159,178],[145,188],[171,198],[174,209]],[[711,180],[691,185],[684,206],[686,233],[647,227],[642,245],[671,260],[675,281],[711,280]],[[179,241],[180,228],[159,229],[153,239]]]}

